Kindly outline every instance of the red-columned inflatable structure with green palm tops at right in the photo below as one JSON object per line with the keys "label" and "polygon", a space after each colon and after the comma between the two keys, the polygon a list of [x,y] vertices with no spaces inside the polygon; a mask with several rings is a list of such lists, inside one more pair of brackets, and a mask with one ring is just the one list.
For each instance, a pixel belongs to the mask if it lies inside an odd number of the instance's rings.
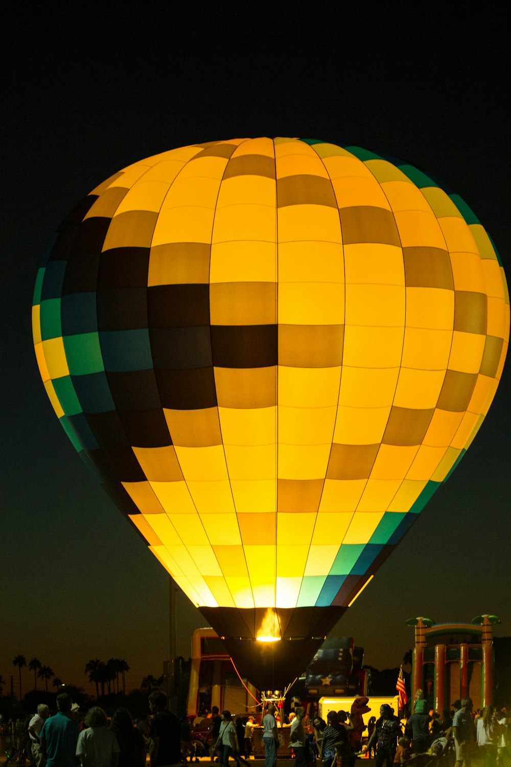
{"label": "red-columned inflatable structure with green palm tops at right", "polygon": [[496,615],[480,615],[470,624],[435,624],[411,618],[415,647],[411,696],[424,690],[430,708],[441,713],[457,698],[470,697],[475,708],[493,703],[493,630]]}

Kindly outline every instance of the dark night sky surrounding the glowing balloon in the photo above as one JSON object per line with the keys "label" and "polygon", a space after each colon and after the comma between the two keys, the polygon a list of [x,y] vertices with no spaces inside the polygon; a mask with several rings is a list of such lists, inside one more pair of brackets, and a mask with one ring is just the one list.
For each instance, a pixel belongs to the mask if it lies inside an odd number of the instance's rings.
{"label": "dark night sky surrounding the glowing balloon", "polygon": [[[127,660],[128,689],[168,657],[169,579],[87,471],[47,400],[31,295],[55,227],[129,163],[176,146],[292,136],[388,153],[443,179],[509,258],[507,41],[496,18],[424,21],[385,5],[262,14],[228,4],[142,12],[21,4],[3,85],[2,642],[86,686],[90,658]],[[241,6],[240,6],[241,7]],[[81,11],[80,11],[81,8]],[[174,4],[169,8],[174,8]],[[369,6],[366,6],[366,10]],[[280,10],[279,10],[280,9]],[[42,12],[41,12],[42,13]],[[388,14],[388,15],[387,15]],[[401,662],[409,617],[501,617],[511,634],[509,364],[467,456],[334,632],[365,662]],[[178,597],[178,653],[205,619]],[[24,671],[25,690],[33,674]],[[283,680],[287,681],[287,680]],[[290,680],[289,680],[290,681]],[[91,691],[91,690],[90,690]],[[8,690],[5,690],[8,692]]]}

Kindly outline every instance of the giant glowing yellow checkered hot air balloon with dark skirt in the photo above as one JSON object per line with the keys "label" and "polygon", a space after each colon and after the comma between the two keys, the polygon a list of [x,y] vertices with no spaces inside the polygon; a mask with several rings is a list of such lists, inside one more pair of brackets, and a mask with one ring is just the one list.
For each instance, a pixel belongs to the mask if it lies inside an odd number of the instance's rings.
{"label": "giant glowing yellow checkered hot air balloon with dark skirt", "polygon": [[509,296],[490,236],[431,176],[235,139],[93,189],[33,318],[71,442],[264,689],[303,670],[464,456]]}

